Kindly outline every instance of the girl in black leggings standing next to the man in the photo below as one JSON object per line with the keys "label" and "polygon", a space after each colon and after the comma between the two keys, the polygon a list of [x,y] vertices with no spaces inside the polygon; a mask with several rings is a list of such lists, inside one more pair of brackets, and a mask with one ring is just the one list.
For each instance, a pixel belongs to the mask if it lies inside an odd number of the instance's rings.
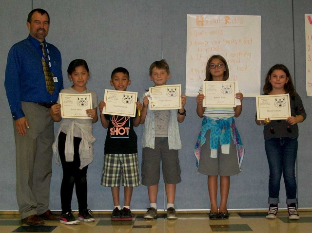
{"label": "girl in black leggings standing next to the man", "polygon": [[[60,222],[66,225],[74,225],[78,224],[79,220],[84,222],[94,221],[91,215],[92,211],[88,209],[87,204],[87,170],[88,164],[93,161],[95,138],[92,136],[92,124],[98,121],[98,98],[96,92],[86,87],[86,83],[90,79],[90,73],[85,60],[73,60],[69,64],[67,72],[69,80],[74,85],[61,90],[62,93],[81,94],[82,96],[91,93],[92,96],[92,109],[86,110],[89,119],[62,119],[60,100],[50,110],[50,115],[54,121],[59,122],[62,120],[57,138],[53,143],[53,151],[56,155],[55,161],[59,164],[60,159],[63,168],[63,179],[60,188],[62,205]],[[78,98],[77,104],[85,104],[85,101],[83,98]],[[79,220],[71,213],[74,185],[76,185]]]}

